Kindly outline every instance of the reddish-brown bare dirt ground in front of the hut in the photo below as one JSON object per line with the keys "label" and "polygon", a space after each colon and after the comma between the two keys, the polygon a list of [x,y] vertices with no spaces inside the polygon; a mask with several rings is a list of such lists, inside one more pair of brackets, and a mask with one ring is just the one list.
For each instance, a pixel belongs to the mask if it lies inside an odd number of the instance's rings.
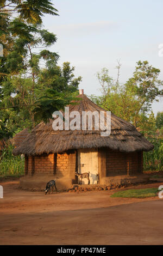
{"label": "reddish-brown bare dirt ground in front of the hut", "polygon": [[18,180],[1,185],[0,245],[163,245],[158,197],[110,198],[118,190],[45,196],[18,189]]}

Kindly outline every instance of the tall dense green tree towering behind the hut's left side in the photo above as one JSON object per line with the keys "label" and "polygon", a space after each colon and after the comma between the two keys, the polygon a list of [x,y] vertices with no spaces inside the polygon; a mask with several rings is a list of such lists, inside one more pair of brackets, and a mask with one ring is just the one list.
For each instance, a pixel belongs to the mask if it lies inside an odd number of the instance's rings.
{"label": "tall dense green tree towering behind the hut's left side", "polygon": [[[20,1],[11,2],[20,4]],[[26,5],[29,2],[21,3]],[[41,4],[39,8],[42,8]],[[7,1],[3,1],[0,7],[7,7]],[[14,11],[18,8],[15,7]],[[46,13],[45,9],[40,11]],[[53,108],[55,111],[71,101],[82,78],[74,78],[74,67],[71,68],[68,62],[62,67],[57,66],[59,55],[48,50],[57,37],[42,27],[39,20],[42,14],[38,12],[40,16],[36,15],[35,19],[29,7],[29,19],[22,13],[11,20],[9,13],[1,15],[2,19],[0,17],[0,25],[5,23],[0,34],[5,49],[0,58],[0,115],[4,127],[13,133],[20,127],[34,127],[49,118]]]}

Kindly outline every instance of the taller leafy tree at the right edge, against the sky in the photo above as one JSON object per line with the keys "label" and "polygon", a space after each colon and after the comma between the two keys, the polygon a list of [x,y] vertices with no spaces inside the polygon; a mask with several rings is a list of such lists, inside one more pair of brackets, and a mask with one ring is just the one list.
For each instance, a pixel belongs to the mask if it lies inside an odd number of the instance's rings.
{"label": "taller leafy tree at the right edge, against the sky", "polygon": [[150,66],[147,61],[137,62],[133,77],[125,84],[126,89],[133,93],[135,100],[139,103],[135,108],[134,125],[137,126],[137,119],[140,112],[148,112],[153,101],[158,101],[162,95],[160,87],[163,82],[158,79],[160,70]]}

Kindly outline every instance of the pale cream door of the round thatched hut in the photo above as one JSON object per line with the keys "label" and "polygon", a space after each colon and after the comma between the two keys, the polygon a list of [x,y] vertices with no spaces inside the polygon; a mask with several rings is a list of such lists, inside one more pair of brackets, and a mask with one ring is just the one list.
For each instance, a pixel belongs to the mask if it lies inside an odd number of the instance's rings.
{"label": "pale cream door of the round thatched hut", "polygon": [[[98,174],[98,150],[78,149],[78,173],[90,172],[90,184],[97,184]],[[87,179],[82,184],[87,184]]]}

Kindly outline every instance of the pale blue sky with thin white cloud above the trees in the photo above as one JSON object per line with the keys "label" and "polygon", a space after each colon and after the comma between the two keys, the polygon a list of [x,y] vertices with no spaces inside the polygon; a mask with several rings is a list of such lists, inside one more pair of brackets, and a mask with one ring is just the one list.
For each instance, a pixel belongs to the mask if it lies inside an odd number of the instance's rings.
{"label": "pale blue sky with thin white cloud above the trees", "polygon": [[[162,0],[53,0],[53,4],[59,16],[43,17],[45,29],[58,38],[50,50],[60,55],[59,65],[68,61],[75,66],[76,77],[83,77],[79,88],[86,95],[101,94],[96,73],[102,68],[116,79],[117,60],[121,83],[133,75],[139,60],[159,68],[163,80]],[[152,108],[155,115],[163,111],[163,98]]]}

